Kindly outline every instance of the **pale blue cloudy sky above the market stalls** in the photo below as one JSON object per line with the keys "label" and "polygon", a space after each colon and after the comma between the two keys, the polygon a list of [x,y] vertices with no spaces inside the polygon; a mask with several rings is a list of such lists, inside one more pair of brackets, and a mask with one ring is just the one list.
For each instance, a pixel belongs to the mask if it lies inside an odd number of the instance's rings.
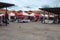
{"label": "pale blue cloudy sky above the market stalls", "polygon": [[38,10],[44,7],[60,7],[60,0],[0,0],[0,2],[15,4],[11,10]]}

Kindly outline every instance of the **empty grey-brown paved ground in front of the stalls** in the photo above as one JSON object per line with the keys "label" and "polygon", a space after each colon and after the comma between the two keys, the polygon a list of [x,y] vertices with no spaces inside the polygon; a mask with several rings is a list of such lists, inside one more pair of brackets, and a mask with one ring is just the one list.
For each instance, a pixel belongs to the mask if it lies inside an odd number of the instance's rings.
{"label": "empty grey-brown paved ground in front of the stalls", "polygon": [[60,40],[60,24],[10,23],[0,27],[0,40]]}

